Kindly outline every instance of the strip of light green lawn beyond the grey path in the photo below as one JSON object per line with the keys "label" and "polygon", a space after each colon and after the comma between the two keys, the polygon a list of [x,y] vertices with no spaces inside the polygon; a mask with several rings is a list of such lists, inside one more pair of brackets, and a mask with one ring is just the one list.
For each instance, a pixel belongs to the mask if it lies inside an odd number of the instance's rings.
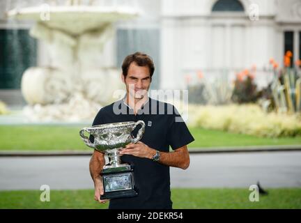
{"label": "strip of light green lawn beyond the grey path", "polygon": [[[83,126],[0,125],[2,151],[76,151],[90,149],[79,137]],[[301,145],[301,137],[262,138],[219,130],[190,128],[190,148],[215,146]]]}

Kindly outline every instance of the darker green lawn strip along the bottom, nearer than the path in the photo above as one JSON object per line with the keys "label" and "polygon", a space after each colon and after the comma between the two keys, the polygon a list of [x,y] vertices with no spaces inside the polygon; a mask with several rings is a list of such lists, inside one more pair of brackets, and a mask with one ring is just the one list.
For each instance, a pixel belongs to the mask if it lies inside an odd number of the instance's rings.
{"label": "darker green lawn strip along the bottom, nearer than the path", "polygon": [[[258,202],[247,189],[173,189],[173,208],[301,208],[301,188],[270,189]],[[40,191],[1,191],[0,208],[107,208],[93,200],[93,190],[52,190],[50,201]]]}

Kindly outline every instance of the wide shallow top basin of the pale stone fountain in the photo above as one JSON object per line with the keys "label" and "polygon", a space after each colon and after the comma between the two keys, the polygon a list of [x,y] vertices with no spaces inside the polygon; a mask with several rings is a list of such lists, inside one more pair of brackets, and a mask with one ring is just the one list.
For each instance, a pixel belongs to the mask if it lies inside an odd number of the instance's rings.
{"label": "wide shallow top basin of the pale stone fountain", "polygon": [[[49,15],[49,16],[47,16]],[[138,12],[129,7],[109,6],[33,6],[9,10],[7,16],[17,20],[42,22],[51,29],[59,29],[72,35],[98,29],[118,20],[137,17]]]}

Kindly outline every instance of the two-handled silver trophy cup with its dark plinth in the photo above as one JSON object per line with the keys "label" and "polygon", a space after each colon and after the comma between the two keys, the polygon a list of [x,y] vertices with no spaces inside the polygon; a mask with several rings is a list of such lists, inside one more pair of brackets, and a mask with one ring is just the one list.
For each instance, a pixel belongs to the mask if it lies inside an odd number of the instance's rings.
{"label": "two-handled silver trophy cup with its dark plinth", "polygon": [[[141,128],[137,137],[133,137],[132,131],[137,125],[141,125]],[[134,186],[134,167],[127,163],[121,163],[120,151],[128,144],[137,143],[142,138],[144,130],[144,121],[136,123],[129,121],[94,125],[79,131],[79,135],[87,146],[105,153],[109,158],[109,164],[106,164],[101,172],[104,194],[100,196],[100,199],[137,196],[138,190]],[[84,135],[84,132],[93,135],[93,143]]]}

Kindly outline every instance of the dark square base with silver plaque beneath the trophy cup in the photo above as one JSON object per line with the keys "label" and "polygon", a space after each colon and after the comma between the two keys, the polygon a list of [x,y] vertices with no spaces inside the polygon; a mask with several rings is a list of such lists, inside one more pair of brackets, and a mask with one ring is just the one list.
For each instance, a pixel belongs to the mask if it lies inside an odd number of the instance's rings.
{"label": "dark square base with silver plaque beneath the trophy cup", "polygon": [[120,199],[138,195],[134,187],[133,167],[123,164],[119,167],[109,167],[102,170],[104,194],[100,199]]}

